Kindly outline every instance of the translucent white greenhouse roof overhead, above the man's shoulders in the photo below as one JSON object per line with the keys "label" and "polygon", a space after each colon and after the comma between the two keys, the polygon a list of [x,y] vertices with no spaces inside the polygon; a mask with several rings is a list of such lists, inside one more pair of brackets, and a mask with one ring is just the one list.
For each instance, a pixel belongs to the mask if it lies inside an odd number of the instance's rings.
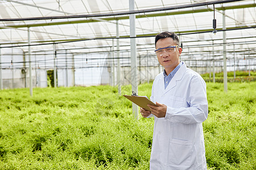
{"label": "translucent white greenhouse roof overhead, above the man's shoulders", "polygon": [[[135,1],[134,10],[149,10],[168,7],[195,5],[215,1]],[[58,50],[72,53],[110,50],[117,36],[117,20],[121,50],[129,50],[130,21],[129,1],[122,0],[2,0],[1,19],[22,19],[21,21],[0,22],[1,48],[16,46],[28,51],[28,27],[32,52],[51,50],[52,42],[59,43]],[[223,13],[225,9],[225,14]],[[94,17],[93,14],[119,14],[115,16]],[[84,18],[65,16],[90,15]],[[227,51],[239,53],[250,51],[255,56],[256,44],[256,5],[255,1],[236,1],[198,7],[178,8],[155,12],[138,12],[135,19],[137,53],[146,50],[154,52],[154,36],[162,31],[179,34],[184,53],[195,53],[202,59],[213,50],[221,54],[223,31],[226,29]],[[225,15],[225,26],[223,25]],[[42,19],[47,16],[63,16],[63,19]],[[96,15],[97,16],[97,15]],[[35,18],[25,20],[26,18]],[[213,31],[213,18],[217,20],[217,33]],[[114,41],[113,41],[114,40]],[[40,45],[46,44],[46,45]],[[213,48],[214,46],[214,48]],[[142,49],[142,50],[139,50]]]}

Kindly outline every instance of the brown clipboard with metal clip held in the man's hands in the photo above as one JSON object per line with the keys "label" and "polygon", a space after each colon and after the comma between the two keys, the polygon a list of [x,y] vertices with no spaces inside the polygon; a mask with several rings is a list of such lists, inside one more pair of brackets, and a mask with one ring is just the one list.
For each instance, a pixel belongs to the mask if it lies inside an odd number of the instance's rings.
{"label": "brown clipboard with metal clip held in the man's hands", "polygon": [[132,101],[133,103],[137,104],[139,107],[146,109],[147,111],[150,111],[150,108],[147,106],[148,104],[150,105],[154,105],[154,106],[158,106],[155,103],[153,103],[150,99],[148,99],[145,96],[137,96],[136,94],[133,92],[133,95],[129,96],[129,95],[123,95],[125,96],[127,99],[129,99],[130,101]]}

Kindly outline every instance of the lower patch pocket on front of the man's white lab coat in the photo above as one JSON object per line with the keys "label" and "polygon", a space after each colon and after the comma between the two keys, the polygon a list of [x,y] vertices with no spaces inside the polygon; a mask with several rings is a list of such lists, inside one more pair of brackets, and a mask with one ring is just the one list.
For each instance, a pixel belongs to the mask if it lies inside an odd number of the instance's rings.
{"label": "lower patch pocket on front of the man's white lab coat", "polygon": [[171,165],[187,166],[191,164],[192,141],[171,139],[168,162]]}

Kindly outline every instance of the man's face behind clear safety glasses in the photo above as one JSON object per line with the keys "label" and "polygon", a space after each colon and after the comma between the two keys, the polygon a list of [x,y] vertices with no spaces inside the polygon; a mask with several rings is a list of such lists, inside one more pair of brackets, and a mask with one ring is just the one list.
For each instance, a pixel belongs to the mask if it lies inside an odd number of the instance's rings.
{"label": "man's face behind clear safety glasses", "polygon": [[[176,45],[177,44],[175,43],[175,41],[172,38],[168,37],[166,39],[158,40],[156,42],[155,49],[165,48],[168,46],[176,46]],[[160,56],[158,54],[156,55],[158,57],[158,62],[160,63],[160,65],[164,67],[166,71],[171,72],[180,63],[179,56],[182,52],[182,49],[179,47],[175,47],[175,52],[172,54],[168,54],[166,49],[163,49],[163,50],[164,50],[163,56]]]}

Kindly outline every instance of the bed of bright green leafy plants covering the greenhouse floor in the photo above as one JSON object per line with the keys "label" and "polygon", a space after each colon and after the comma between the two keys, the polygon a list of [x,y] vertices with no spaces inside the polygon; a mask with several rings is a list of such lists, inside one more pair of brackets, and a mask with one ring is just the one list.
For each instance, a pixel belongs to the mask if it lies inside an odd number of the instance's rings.
{"label": "bed of bright green leafy plants covering the greenhouse floor", "polygon": [[[152,83],[141,84],[142,96]],[[255,82],[207,83],[209,169],[255,169]],[[131,86],[122,87],[122,95]],[[117,87],[0,93],[0,169],[149,169],[154,119],[134,120]]]}

